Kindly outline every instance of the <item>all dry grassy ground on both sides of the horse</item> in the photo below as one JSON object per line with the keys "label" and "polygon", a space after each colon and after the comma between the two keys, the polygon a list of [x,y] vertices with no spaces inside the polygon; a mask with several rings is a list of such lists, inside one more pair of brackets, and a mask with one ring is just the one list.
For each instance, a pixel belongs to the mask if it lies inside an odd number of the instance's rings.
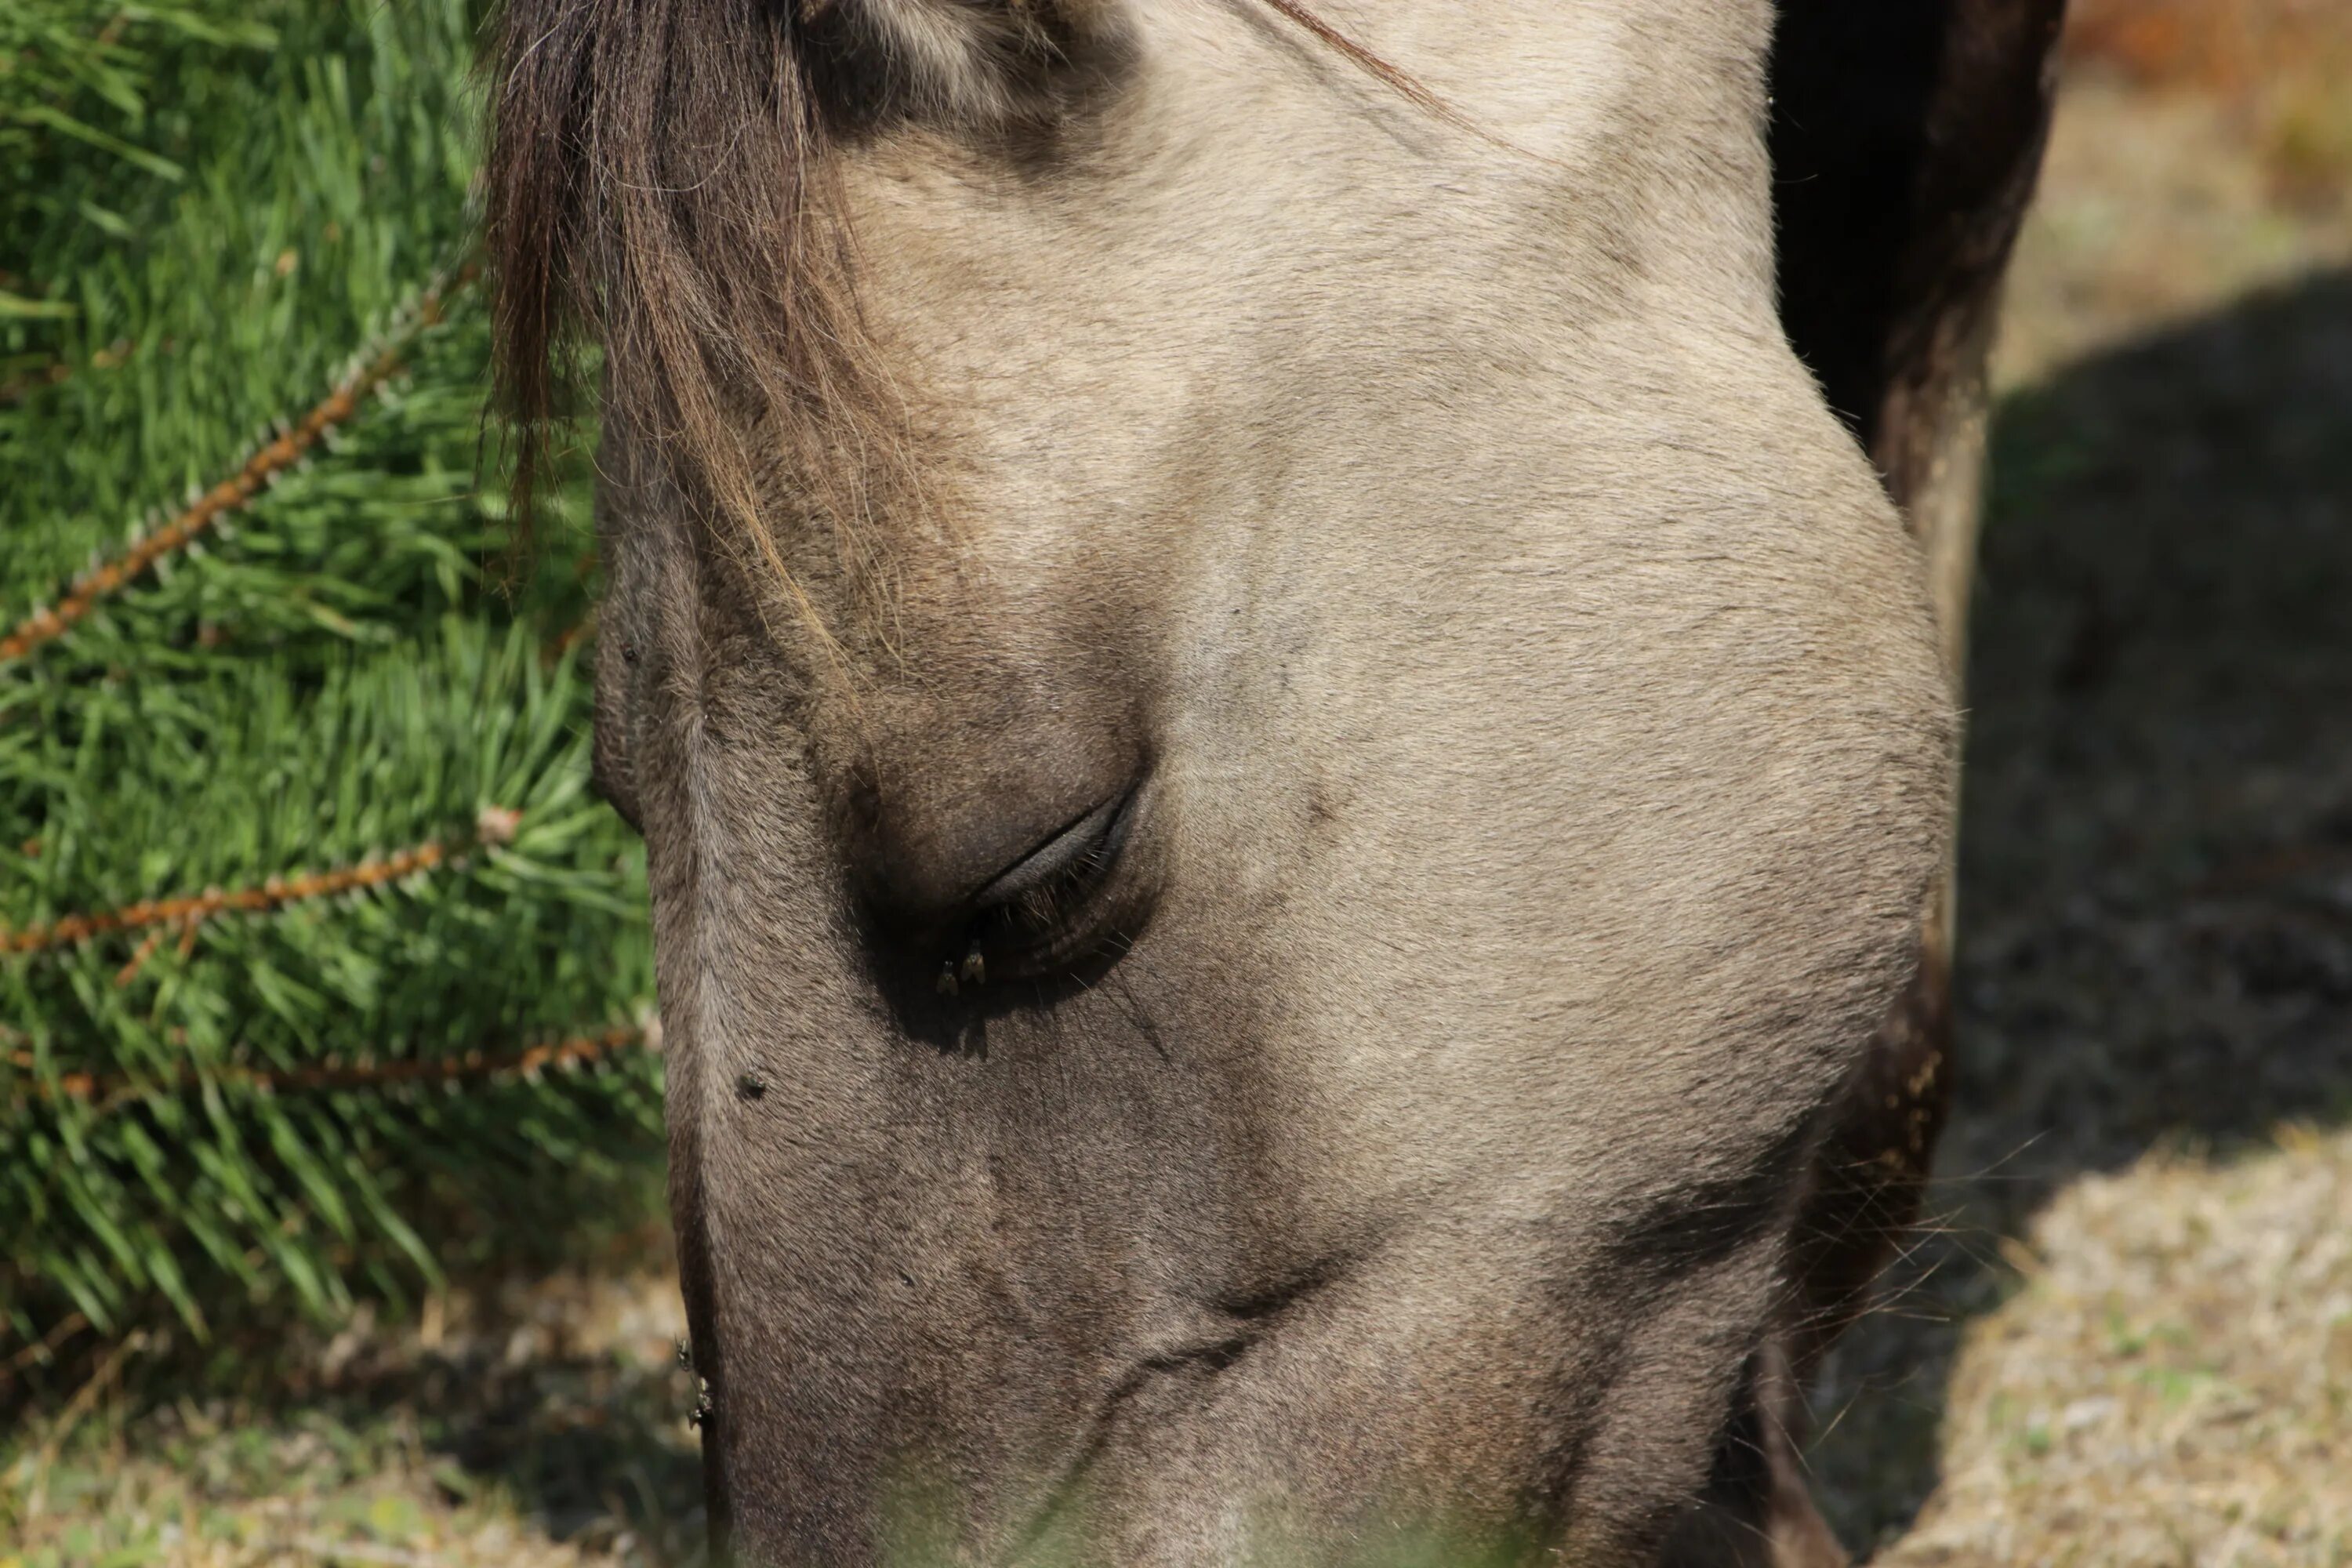
{"label": "all dry grassy ground on both sides of the horse", "polygon": [[[1884,1563],[2340,1566],[2352,5],[2077,0],[2072,56],[1999,364],[1940,1227],[1816,1481]],[[118,1345],[0,1427],[0,1568],[699,1561],[677,1316],[564,1274],[205,1392]]]}

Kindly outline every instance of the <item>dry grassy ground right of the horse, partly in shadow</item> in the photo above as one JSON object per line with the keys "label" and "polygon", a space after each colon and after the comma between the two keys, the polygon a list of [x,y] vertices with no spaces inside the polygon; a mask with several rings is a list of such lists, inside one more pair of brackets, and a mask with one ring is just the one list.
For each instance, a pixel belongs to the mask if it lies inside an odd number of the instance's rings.
{"label": "dry grassy ground right of the horse, partly in shadow", "polygon": [[2352,1563],[2352,7],[2079,0],[1999,357],[1903,1566]]}

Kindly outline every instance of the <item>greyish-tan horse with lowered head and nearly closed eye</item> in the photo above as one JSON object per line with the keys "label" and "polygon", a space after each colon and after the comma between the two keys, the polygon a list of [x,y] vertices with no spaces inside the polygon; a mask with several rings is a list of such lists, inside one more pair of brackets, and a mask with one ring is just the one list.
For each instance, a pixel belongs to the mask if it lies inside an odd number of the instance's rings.
{"label": "greyish-tan horse with lowered head and nearly closed eye", "polygon": [[743,1561],[1839,1561],[2056,9],[510,0]]}

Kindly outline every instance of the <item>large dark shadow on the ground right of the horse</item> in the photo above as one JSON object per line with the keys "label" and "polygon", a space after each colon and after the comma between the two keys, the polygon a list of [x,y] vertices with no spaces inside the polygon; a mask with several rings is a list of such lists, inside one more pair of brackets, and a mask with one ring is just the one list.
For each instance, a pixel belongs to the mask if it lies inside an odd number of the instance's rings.
{"label": "large dark shadow on the ground right of the horse", "polygon": [[1816,1403],[1858,1547],[2060,1185],[2352,1119],[2352,273],[2009,397],[1992,463],[1943,1227]]}

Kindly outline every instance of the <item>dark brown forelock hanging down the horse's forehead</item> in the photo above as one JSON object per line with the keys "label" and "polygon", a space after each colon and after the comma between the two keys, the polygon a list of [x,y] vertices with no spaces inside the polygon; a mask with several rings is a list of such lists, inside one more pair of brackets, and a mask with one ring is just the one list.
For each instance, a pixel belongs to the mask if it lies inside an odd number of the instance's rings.
{"label": "dark brown forelock hanging down the horse's forehead", "polygon": [[802,456],[870,418],[823,122],[783,0],[510,0],[489,68],[496,409],[517,508],[586,341],[668,480],[753,524],[741,409]]}

